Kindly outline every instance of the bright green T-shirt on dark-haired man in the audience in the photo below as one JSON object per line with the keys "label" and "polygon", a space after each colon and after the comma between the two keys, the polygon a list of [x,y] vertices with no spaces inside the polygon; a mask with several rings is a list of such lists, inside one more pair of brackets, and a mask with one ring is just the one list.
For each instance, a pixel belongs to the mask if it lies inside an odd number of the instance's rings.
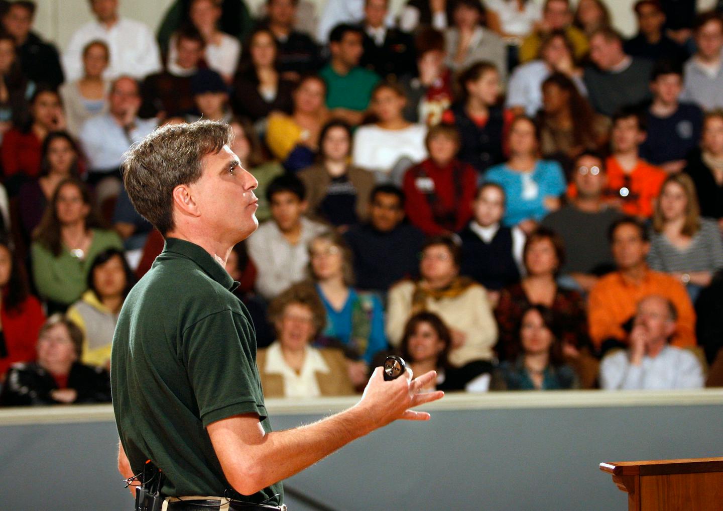
{"label": "bright green T-shirt on dark-haired man in the audience", "polygon": [[372,90],[380,80],[377,73],[359,66],[346,75],[339,75],[327,64],[319,75],[326,82],[326,106],[330,109],[366,110]]}

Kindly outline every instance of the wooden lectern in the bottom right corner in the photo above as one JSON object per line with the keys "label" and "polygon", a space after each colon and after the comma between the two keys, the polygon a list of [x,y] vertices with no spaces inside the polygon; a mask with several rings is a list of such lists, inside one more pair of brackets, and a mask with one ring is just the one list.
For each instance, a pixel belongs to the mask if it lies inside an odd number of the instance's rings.
{"label": "wooden lectern in the bottom right corner", "polygon": [[629,511],[723,510],[723,457],[600,463]]}

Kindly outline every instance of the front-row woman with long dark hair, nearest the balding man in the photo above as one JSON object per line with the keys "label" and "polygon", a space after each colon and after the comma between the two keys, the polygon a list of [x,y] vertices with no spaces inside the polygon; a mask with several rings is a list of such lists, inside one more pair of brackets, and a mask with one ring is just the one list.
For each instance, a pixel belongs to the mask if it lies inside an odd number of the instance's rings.
{"label": "front-row woman with long dark hair, nearest the balding man", "polygon": [[515,356],[492,377],[493,390],[564,390],[579,387],[565,363],[555,315],[544,305],[530,305],[516,329]]}

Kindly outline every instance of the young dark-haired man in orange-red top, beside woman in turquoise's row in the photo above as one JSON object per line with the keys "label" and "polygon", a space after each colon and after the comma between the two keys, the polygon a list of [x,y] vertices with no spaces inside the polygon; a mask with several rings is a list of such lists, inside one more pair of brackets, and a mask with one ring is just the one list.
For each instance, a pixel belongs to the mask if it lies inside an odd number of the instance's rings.
{"label": "young dark-haired man in orange-red top, beside woman in turquoise's row", "polygon": [[650,218],[666,174],[640,158],[638,149],[645,138],[645,119],[638,109],[625,107],[613,116],[606,195],[626,215]]}

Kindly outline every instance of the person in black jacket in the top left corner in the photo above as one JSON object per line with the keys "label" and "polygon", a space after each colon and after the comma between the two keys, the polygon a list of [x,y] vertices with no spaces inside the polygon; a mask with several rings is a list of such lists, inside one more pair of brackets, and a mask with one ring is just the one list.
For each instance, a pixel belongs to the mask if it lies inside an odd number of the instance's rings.
{"label": "person in black jacket in the top left corner", "polygon": [[56,88],[64,81],[60,56],[55,46],[30,31],[34,17],[35,2],[14,1],[2,17],[2,26],[15,40],[25,76],[35,83]]}

